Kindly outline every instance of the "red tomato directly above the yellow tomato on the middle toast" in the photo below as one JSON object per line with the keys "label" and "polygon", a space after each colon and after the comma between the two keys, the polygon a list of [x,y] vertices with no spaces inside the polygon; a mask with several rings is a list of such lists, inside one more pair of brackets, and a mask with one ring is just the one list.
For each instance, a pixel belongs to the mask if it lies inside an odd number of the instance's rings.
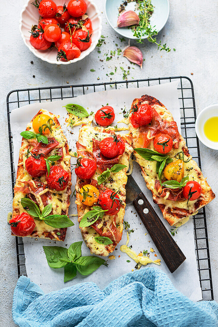
{"label": "red tomato directly above the yellow tomato on the middle toast", "polygon": [[95,160],[91,158],[78,158],[75,167],[77,177],[88,180],[96,172],[97,165]]}

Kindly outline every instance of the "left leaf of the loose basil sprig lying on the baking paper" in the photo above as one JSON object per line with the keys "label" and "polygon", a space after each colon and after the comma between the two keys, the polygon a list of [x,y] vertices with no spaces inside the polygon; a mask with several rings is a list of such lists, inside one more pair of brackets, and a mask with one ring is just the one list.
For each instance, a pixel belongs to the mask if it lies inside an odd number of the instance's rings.
{"label": "left leaf of the loose basil sprig lying on the baking paper", "polygon": [[67,249],[60,246],[43,246],[49,267],[61,268],[69,262]]}

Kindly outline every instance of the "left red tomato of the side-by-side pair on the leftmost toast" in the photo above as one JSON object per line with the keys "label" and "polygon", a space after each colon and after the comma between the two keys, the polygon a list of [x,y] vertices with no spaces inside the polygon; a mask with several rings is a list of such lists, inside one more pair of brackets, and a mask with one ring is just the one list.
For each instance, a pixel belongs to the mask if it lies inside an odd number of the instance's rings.
{"label": "left red tomato of the side-by-side pair on the leftmost toast", "polygon": [[32,177],[41,177],[46,174],[47,167],[43,156],[33,154],[25,161],[25,169]]}

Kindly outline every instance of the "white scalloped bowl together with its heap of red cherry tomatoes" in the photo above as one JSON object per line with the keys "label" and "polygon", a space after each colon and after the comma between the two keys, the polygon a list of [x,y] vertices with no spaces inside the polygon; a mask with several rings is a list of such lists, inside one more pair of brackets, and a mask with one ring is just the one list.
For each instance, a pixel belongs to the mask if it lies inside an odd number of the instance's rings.
{"label": "white scalloped bowl together with its heap of red cherry tomatoes", "polygon": [[20,32],[36,57],[67,65],[94,50],[101,23],[92,0],[28,0],[21,11]]}

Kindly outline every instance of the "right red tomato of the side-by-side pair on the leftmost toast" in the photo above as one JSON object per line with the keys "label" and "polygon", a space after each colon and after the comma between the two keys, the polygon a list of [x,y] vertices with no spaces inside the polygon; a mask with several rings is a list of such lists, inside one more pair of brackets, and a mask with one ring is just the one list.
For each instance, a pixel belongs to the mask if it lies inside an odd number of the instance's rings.
{"label": "right red tomato of the side-by-side pair on the leftmost toast", "polygon": [[48,172],[46,174],[48,186],[57,191],[63,191],[67,187],[69,178],[68,172],[60,166],[51,166],[49,176]]}

